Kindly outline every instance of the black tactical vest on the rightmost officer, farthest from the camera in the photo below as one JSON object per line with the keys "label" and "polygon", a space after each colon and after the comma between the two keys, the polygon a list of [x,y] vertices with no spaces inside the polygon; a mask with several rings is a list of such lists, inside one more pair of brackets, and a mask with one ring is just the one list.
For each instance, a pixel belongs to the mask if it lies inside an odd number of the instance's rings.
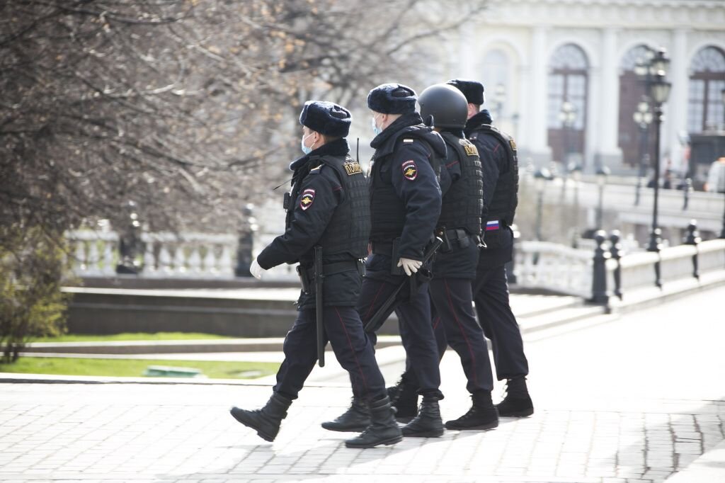
{"label": "black tactical vest on the rightmost officer, farthest from the camera", "polygon": [[518,157],[516,154],[516,144],[513,138],[506,133],[502,133],[490,124],[482,124],[476,128],[471,136],[471,141],[478,139],[479,135],[493,136],[494,139],[506,150],[508,163],[502,167],[499,172],[499,178],[496,181],[496,188],[493,195],[488,199],[489,209],[486,213],[487,220],[502,220],[508,226],[513,224],[513,217],[516,213],[518,205]]}

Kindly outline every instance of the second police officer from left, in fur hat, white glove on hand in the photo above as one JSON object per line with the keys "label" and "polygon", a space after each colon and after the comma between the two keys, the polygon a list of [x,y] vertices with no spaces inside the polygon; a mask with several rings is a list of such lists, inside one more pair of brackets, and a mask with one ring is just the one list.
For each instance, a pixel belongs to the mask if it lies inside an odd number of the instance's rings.
{"label": "second police officer from left, in fur hat, white glove on hand", "polygon": [[[417,96],[412,88],[397,83],[382,84],[368,94],[372,128],[370,146],[370,207],[372,255],[360,292],[358,310],[363,323],[377,312],[406,277],[415,276],[423,265],[423,252],[433,236],[441,210],[441,190],[436,177],[439,160],[445,157],[441,136],[423,124],[415,112]],[[431,325],[428,284],[397,305],[400,334],[420,383],[421,409],[403,426],[404,436],[439,437],[443,421],[438,401],[440,372],[436,339]],[[353,396],[359,395],[353,387]],[[351,431],[365,424],[365,413],[355,403],[326,429]],[[359,426],[358,426],[359,425]]]}

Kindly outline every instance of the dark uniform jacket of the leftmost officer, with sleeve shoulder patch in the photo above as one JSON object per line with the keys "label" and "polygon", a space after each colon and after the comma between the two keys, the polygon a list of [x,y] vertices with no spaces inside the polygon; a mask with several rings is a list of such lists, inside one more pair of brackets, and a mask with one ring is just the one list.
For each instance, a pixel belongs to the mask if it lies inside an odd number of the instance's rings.
{"label": "dark uniform jacket of the leftmost officer, with sleeve shoulder patch", "polygon": [[[289,165],[289,168],[294,170],[293,186],[300,183],[299,189],[294,190],[298,193],[297,199],[290,200],[291,223],[284,234],[274,239],[257,257],[260,267],[266,270],[282,263],[299,262],[311,270],[313,248],[325,232],[337,205],[345,199],[345,192],[337,174],[328,166],[320,164],[320,158],[317,156],[346,156],[348,152],[347,141],[338,139],[320,146]],[[315,159],[311,160],[310,157]],[[310,189],[315,190],[312,203],[308,202],[310,196],[305,195],[305,190]],[[305,204],[302,203],[303,197],[306,197]],[[345,260],[351,260],[351,257],[346,254],[325,255],[323,247],[323,264]],[[326,276],[323,290],[324,305],[355,306],[360,294],[360,284],[361,278],[357,271]],[[301,293],[297,305],[300,309],[314,308],[314,293]]]}

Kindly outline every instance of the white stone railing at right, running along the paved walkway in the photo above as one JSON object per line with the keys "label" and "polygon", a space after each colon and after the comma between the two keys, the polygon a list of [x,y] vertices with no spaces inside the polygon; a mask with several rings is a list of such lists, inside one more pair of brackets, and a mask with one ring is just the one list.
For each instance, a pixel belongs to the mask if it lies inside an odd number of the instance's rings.
{"label": "white stone railing at right, running along the paved walkway", "polygon": [[[610,248],[605,242],[605,249]],[[655,286],[655,263],[660,262],[661,281],[693,278],[692,257],[697,254],[699,273],[725,271],[725,239],[679,245],[655,252],[627,253],[620,259],[621,292]],[[574,249],[547,241],[522,241],[516,247],[514,273],[518,286],[592,297],[593,249]],[[616,260],[606,262],[607,289],[613,292]]]}

